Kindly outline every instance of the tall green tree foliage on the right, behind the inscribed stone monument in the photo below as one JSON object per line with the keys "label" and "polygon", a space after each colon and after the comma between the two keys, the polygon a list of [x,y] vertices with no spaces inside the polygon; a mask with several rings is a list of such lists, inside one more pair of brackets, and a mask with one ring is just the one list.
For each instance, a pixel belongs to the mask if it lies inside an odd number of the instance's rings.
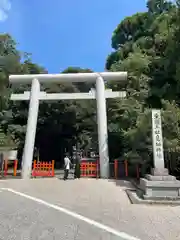
{"label": "tall green tree foliage on the right, behind the inscribed stone monument", "polygon": [[[112,116],[123,138],[123,152],[139,161],[152,153],[151,108],[162,109],[164,147],[178,147],[179,135],[179,6],[149,0],[147,12],[125,18],[112,35],[110,71],[128,71],[128,98]],[[134,158],[137,160],[137,158]]]}

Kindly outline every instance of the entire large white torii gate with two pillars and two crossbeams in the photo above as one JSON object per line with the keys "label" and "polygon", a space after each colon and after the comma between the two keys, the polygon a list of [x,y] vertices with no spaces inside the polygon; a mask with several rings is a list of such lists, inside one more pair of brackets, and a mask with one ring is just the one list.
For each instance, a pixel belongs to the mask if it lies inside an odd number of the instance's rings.
{"label": "entire large white torii gate with two pillars and two crossbeams", "polygon": [[[107,133],[106,98],[124,98],[126,92],[105,90],[104,82],[126,81],[127,72],[67,73],[67,74],[28,74],[10,75],[11,84],[30,84],[31,92],[12,94],[11,100],[30,100],[25,145],[22,158],[22,178],[31,177],[34,143],[36,136],[39,100],[96,99],[100,158],[100,176],[109,176],[109,153]],[[96,82],[96,90],[89,93],[46,93],[40,91],[40,83]]]}

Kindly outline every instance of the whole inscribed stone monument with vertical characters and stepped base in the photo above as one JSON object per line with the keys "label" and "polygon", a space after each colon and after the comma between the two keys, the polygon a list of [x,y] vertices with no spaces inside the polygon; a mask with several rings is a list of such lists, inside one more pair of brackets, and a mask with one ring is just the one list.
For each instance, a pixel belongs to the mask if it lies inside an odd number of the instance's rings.
{"label": "whole inscribed stone monument with vertical characters and stepped base", "polygon": [[[180,200],[180,181],[169,175],[164,165],[161,111],[152,110],[154,168],[140,179],[141,197],[146,200]],[[138,194],[139,195],[139,194]]]}

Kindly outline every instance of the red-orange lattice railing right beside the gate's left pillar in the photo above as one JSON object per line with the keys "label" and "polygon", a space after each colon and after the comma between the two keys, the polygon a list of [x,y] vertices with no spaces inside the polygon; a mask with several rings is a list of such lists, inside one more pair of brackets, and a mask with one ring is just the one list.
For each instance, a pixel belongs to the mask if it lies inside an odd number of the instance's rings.
{"label": "red-orange lattice railing right beside the gate's left pillar", "polygon": [[33,177],[54,177],[54,160],[52,162],[36,162],[33,163]]}

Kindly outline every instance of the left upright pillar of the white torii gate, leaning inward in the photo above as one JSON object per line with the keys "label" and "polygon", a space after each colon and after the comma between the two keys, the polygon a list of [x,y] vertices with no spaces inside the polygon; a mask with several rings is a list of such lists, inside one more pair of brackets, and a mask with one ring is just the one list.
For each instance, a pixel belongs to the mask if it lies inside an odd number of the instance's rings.
{"label": "left upright pillar of the white torii gate, leaning inward", "polygon": [[26,138],[24,145],[24,152],[22,158],[22,178],[28,179],[31,177],[34,142],[36,137],[37,118],[39,110],[39,93],[40,84],[38,79],[32,80],[28,122],[26,130]]}

